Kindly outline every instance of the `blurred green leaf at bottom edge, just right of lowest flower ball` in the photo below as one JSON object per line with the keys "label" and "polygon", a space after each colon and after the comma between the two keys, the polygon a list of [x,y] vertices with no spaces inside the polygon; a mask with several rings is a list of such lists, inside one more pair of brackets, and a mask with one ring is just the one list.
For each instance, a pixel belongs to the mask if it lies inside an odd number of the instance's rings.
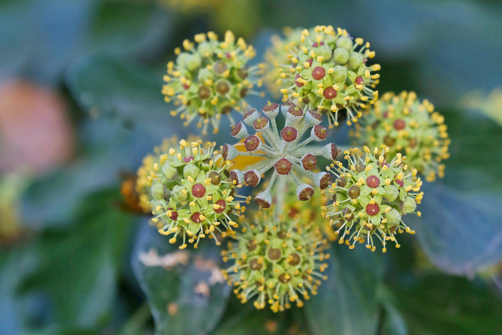
{"label": "blurred green leaf at bottom edge, just right of lowest flower ball", "polygon": [[323,275],[328,279],[305,303],[310,327],[316,335],[376,334],[379,303],[376,292],[383,281],[380,255],[358,245],[350,250],[334,245]]}

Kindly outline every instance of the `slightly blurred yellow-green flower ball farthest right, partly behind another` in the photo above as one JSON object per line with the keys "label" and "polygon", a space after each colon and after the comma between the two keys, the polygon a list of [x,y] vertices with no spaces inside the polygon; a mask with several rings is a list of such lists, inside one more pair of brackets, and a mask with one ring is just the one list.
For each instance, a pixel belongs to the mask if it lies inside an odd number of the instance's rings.
{"label": "slightly blurred yellow-green flower ball farthest right, partly behind another", "polygon": [[427,99],[420,102],[415,92],[385,93],[369,110],[362,127],[357,126],[351,135],[369,147],[384,143],[389,148],[385,159],[401,153],[408,157],[410,169],[417,169],[425,180],[434,181],[436,174],[444,176],[441,161],[450,156],[444,117]]}

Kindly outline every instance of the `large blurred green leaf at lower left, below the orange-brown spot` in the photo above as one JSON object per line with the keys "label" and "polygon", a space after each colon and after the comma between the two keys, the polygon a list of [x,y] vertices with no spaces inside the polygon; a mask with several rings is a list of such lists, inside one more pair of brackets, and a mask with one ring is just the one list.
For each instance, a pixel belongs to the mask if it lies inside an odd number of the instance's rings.
{"label": "large blurred green leaf at lower left, below the orange-brown spot", "polygon": [[37,241],[40,267],[19,289],[47,293],[62,324],[91,327],[110,312],[133,223],[119,201],[114,189],[94,193],[71,228],[46,230]]}

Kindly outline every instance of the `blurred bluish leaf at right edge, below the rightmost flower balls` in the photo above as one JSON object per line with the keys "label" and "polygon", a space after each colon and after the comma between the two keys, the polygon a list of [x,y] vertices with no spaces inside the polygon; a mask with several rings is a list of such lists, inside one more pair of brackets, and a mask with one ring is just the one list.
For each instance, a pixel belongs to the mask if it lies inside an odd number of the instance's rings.
{"label": "blurred bluish leaf at right edge, below the rightmost flower balls", "polygon": [[460,192],[440,181],[425,183],[422,190],[424,198],[417,207],[422,216],[410,214],[405,221],[416,230],[434,264],[451,274],[472,276],[500,262],[502,197],[499,194]]}

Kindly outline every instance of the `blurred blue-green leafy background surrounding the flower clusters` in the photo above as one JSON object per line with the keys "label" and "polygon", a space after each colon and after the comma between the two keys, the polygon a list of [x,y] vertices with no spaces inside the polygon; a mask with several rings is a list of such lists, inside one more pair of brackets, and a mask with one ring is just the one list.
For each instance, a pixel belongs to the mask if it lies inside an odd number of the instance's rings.
{"label": "blurred blue-green leafy background surrounding the flower clusters", "polygon": [[[196,33],[230,29],[260,62],[283,27],[315,25],[371,43],[381,93],[434,103],[445,178],[424,184],[399,250],[333,246],[302,309],[194,292],[219,249],[173,263],[120,193],[163,138],[199,133],[169,116],[165,64]],[[496,1],[0,1],[0,334],[502,333],[501,31]]]}

